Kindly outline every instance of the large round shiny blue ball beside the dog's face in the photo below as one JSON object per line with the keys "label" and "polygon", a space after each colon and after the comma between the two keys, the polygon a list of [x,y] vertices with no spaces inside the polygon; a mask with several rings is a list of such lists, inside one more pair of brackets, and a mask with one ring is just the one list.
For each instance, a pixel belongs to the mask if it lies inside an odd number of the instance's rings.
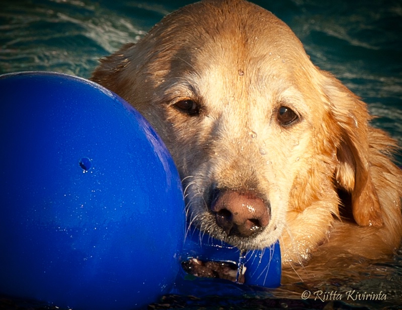
{"label": "large round shiny blue ball beside the dog's face", "polygon": [[0,77],[0,292],[131,309],[171,289],[185,216],[178,173],[117,95],[57,73]]}

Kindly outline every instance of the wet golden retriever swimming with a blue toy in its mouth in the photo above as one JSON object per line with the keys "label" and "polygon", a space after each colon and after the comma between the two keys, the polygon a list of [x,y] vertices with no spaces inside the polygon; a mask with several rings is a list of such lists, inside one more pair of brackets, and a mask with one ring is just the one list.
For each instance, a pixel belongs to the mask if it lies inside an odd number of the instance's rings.
{"label": "wet golden retriever swimming with a blue toy in its mouth", "polygon": [[188,5],[102,59],[92,80],[162,137],[200,230],[241,249],[279,239],[284,267],[322,249],[375,259],[399,247],[395,142],[270,12]]}

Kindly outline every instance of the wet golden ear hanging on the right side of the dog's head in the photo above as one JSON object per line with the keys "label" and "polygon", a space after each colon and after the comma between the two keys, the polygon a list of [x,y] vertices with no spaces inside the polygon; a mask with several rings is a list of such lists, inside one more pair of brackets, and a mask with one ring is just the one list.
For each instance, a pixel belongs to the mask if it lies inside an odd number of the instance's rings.
{"label": "wet golden ear hanging on the right side of the dog's head", "polygon": [[351,211],[358,225],[382,226],[381,207],[370,174],[370,116],[366,104],[333,76],[323,74],[324,93],[340,126],[335,181],[339,189],[351,195]]}

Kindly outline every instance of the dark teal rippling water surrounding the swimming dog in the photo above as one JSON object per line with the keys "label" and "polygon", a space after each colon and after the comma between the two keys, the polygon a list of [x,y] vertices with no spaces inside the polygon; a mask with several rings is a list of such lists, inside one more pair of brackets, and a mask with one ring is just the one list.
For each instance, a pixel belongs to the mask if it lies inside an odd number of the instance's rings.
{"label": "dark teal rippling water surrounding the swimming dog", "polygon": [[[0,11],[0,73],[46,70],[88,78],[97,59],[136,42],[169,12],[190,1],[3,0]],[[402,145],[402,2],[255,1],[286,22],[312,61],[332,72],[368,103],[372,123]],[[397,154],[399,165],[402,157]],[[350,258],[333,262],[338,266]],[[402,308],[402,253],[389,261],[353,262],[353,269],[326,282],[294,282],[243,297],[197,299],[166,296],[171,307],[197,308]],[[360,266],[360,267],[359,267]],[[364,266],[364,267],[361,267]],[[317,270],[315,270],[317,271]],[[342,274],[344,273],[344,274]],[[349,279],[345,279],[349,277]],[[353,300],[348,291],[386,294],[386,300]],[[310,299],[302,297],[310,292]],[[327,300],[313,297],[323,291]],[[333,293],[333,295],[331,295]],[[341,294],[341,299],[337,299]],[[333,296],[333,297],[331,297]],[[336,297],[335,297],[336,296]],[[352,295],[352,296],[357,296]],[[312,299],[313,298],[313,299]],[[357,298],[357,297],[356,297]],[[163,308],[162,303],[155,308]]]}

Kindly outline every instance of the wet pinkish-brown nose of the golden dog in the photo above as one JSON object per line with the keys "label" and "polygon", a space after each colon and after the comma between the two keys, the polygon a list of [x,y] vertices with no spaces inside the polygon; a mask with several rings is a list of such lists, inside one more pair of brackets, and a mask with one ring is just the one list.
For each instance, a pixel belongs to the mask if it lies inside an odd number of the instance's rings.
{"label": "wet pinkish-brown nose of the golden dog", "polygon": [[215,191],[211,212],[228,236],[250,237],[269,223],[269,207],[250,191]]}

